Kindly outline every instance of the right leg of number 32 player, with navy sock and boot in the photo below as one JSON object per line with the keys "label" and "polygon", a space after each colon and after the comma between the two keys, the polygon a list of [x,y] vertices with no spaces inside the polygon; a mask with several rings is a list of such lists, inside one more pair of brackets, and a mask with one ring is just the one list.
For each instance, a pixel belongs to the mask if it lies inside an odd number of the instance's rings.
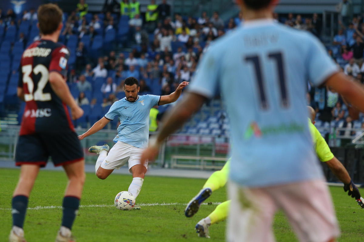
{"label": "right leg of number 32 player, with navy sock and boot", "polygon": [[71,229],[78,212],[86,179],[84,160],[64,165],[63,168],[68,177],[68,185],[63,198],[62,226],[57,234],[57,242],[73,241]]}

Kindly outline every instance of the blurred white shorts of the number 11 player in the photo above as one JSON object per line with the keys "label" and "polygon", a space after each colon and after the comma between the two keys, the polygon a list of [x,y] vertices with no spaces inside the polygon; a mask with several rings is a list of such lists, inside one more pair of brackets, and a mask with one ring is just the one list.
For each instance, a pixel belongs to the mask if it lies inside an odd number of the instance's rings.
{"label": "blurred white shorts of the number 11 player", "polygon": [[230,182],[229,196],[228,242],[274,242],[272,223],[278,209],[284,211],[301,242],[327,242],[340,234],[323,180],[265,188]]}

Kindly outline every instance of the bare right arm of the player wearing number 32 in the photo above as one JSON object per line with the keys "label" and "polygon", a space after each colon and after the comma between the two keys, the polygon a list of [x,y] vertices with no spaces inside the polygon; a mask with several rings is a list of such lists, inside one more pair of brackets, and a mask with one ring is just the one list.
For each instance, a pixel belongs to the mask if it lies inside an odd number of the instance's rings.
{"label": "bare right arm of the player wearing number 32", "polygon": [[78,106],[75,99],[72,97],[70,89],[67,83],[64,81],[61,74],[56,71],[52,71],[49,74],[49,82],[53,91],[56,95],[65,102],[71,108],[72,119],[81,118],[83,115],[83,110]]}

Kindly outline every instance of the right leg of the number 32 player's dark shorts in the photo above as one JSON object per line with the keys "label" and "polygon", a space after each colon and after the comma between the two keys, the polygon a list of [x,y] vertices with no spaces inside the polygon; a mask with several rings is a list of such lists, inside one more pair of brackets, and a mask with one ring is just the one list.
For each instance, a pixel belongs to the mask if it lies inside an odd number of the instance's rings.
{"label": "right leg of the number 32 player's dark shorts", "polygon": [[55,166],[83,160],[83,150],[77,134],[73,131],[41,135]]}

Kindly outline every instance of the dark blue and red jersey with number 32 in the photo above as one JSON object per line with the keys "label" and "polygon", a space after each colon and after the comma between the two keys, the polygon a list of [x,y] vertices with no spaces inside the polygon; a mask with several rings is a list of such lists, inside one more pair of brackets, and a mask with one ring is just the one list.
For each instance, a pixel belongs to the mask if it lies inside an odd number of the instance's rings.
{"label": "dark blue and red jersey with number 32", "polygon": [[50,40],[35,41],[24,51],[18,82],[26,102],[20,135],[74,131],[66,103],[49,83],[52,71],[60,73],[66,81],[69,57],[66,46]]}

